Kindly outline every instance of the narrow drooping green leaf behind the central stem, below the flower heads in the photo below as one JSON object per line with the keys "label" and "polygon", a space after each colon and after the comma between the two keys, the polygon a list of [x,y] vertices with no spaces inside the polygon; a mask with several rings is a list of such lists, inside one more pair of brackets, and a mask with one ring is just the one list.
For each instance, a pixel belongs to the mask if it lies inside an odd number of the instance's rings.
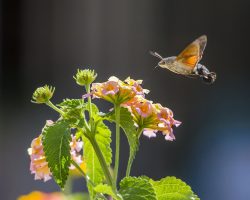
{"label": "narrow drooping green leaf behind the central stem, below the flower heads", "polygon": [[[115,113],[111,112],[107,114],[104,118],[111,122],[115,122]],[[127,108],[124,107],[121,107],[120,110],[120,126],[122,127],[128,139],[130,148],[129,160],[133,160],[139,148],[139,139],[137,137],[136,127],[134,125],[134,120],[131,116],[131,113],[128,111]]]}

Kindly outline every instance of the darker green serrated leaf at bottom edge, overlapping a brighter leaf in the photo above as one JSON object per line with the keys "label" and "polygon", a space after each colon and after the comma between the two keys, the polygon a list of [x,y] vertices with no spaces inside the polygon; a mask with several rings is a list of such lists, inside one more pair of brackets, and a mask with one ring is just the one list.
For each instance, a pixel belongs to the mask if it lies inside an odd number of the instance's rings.
{"label": "darker green serrated leaf at bottom edge, overlapping a brighter leaf", "polygon": [[157,200],[149,180],[140,177],[124,178],[120,182],[120,194],[123,200]]}

